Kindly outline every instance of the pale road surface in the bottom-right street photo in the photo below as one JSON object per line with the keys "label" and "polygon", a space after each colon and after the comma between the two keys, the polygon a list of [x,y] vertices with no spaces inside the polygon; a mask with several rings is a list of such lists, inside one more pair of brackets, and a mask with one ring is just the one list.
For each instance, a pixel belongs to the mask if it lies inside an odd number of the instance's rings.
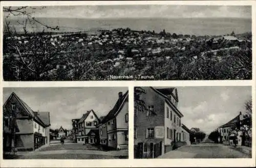
{"label": "pale road surface in the bottom-right street photo", "polygon": [[233,147],[215,143],[199,143],[170,151],[159,158],[251,158]]}

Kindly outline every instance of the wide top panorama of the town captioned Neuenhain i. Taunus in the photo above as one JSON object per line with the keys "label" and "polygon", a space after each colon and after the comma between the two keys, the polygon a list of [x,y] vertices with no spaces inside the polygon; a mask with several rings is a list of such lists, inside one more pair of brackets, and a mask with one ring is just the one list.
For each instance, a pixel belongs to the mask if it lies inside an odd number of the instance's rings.
{"label": "wide top panorama of the town captioned Neuenhain i. Taunus", "polygon": [[251,6],[4,6],[4,81],[251,80]]}

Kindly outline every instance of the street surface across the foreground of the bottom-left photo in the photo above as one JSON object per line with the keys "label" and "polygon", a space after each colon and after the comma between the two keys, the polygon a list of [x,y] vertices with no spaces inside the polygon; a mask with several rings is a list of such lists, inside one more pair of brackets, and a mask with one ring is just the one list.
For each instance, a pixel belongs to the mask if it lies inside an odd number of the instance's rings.
{"label": "street surface across the foreground of the bottom-left photo", "polygon": [[17,152],[16,156],[5,156],[6,159],[124,159],[128,150],[103,151],[99,146],[79,143],[53,145],[38,151]]}

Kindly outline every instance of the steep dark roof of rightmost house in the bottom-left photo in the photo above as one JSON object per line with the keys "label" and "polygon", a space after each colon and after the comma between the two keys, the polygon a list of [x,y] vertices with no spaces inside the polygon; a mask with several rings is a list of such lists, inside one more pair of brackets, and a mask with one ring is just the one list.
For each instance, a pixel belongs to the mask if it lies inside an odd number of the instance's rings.
{"label": "steep dark roof of rightmost house in the bottom-left photo", "polygon": [[[108,122],[110,119],[115,117],[115,114],[119,112],[119,108],[121,107],[122,103],[127,99],[128,90],[122,95],[122,98],[119,98],[115,104],[115,106],[110,110],[110,112],[102,119],[102,123]],[[119,111],[118,111],[119,110]]]}

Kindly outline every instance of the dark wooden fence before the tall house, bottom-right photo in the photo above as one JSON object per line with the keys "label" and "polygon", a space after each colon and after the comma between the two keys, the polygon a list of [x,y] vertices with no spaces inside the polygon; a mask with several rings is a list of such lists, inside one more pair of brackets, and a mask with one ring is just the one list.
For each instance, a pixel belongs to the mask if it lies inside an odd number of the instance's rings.
{"label": "dark wooden fence before the tall house, bottom-right photo", "polygon": [[150,159],[162,154],[162,141],[158,143],[138,143],[134,149],[135,158]]}

